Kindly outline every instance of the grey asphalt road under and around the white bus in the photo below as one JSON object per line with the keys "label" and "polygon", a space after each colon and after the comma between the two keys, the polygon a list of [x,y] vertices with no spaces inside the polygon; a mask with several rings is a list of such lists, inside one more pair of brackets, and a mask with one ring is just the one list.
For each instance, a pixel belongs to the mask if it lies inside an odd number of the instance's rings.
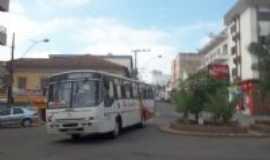
{"label": "grey asphalt road under and around the white bus", "polygon": [[159,117],[145,129],[129,129],[111,140],[102,136],[71,141],[49,136],[44,127],[0,129],[0,160],[269,160],[270,139],[200,138],[162,133],[158,125],[177,114],[158,104]]}

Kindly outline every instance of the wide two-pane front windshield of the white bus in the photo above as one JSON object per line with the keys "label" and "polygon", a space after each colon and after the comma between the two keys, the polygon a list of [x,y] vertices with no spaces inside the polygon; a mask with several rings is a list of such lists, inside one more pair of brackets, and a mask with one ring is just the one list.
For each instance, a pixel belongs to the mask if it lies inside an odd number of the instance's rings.
{"label": "wide two-pane front windshield of the white bus", "polygon": [[100,82],[96,80],[62,81],[49,87],[48,108],[85,108],[100,102]]}

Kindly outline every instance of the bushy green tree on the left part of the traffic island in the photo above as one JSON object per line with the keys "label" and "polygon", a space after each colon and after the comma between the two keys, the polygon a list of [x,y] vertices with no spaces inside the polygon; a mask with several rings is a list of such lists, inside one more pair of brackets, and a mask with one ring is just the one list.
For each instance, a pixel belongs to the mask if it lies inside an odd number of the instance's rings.
{"label": "bushy green tree on the left part of the traffic island", "polygon": [[219,88],[227,86],[227,81],[215,80],[206,72],[192,75],[181,83],[180,91],[176,94],[178,111],[184,112],[184,115],[193,114],[198,122],[200,113],[209,101],[209,95],[214,95]]}

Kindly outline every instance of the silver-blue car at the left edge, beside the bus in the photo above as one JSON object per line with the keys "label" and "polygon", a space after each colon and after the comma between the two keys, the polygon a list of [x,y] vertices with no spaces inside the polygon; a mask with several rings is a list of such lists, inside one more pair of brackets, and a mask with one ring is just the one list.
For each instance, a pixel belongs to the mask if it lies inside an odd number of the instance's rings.
{"label": "silver-blue car at the left edge, beside the bus", "polygon": [[0,126],[31,127],[33,122],[39,120],[39,114],[27,108],[11,107],[0,109]]}

